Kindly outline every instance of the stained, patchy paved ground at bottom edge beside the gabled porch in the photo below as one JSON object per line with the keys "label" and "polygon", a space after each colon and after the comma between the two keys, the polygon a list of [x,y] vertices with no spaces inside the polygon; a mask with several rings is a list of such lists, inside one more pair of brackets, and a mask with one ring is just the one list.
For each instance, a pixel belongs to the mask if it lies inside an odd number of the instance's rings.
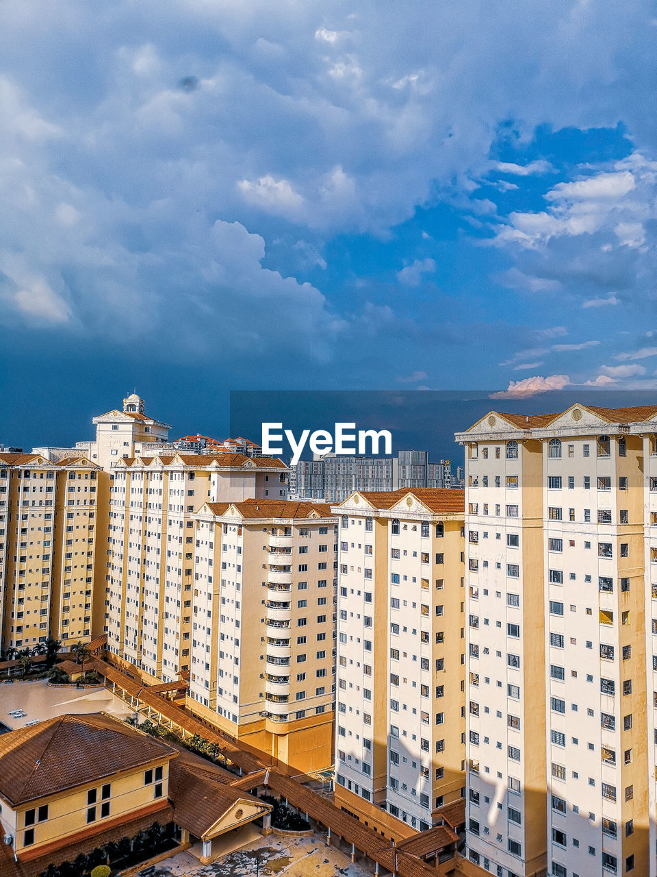
{"label": "stained, patchy paved ground at bottom edge beside the gabled porch", "polygon": [[[335,846],[327,846],[322,835],[312,838],[266,838],[254,834],[239,849],[225,852],[209,865],[201,865],[192,851],[179,852],[147,870],[144,877],[371,877],[359,865],[352,865],[350,857]],[[226,836],[230,845],[230,835]],[[140,872],[143,873],[143,872]]]}

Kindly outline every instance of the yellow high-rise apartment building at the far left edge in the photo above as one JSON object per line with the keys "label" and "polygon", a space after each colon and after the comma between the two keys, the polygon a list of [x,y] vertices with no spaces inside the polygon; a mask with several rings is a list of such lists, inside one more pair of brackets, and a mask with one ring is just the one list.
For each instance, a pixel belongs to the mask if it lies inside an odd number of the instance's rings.
{"label": "yellow high-rise apartment building at the far left edge", "polygon": [[4,650],[90,638],[99,471],[85,458],[0,454]]}

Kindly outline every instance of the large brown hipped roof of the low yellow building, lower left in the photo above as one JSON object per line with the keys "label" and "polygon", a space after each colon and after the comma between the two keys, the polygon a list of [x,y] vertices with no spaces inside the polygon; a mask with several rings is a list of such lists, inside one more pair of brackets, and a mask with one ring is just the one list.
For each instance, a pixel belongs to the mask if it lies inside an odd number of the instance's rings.
{"label": "large brown hipped roof of the low yellow building, lower left", "polygon": [[51,718],[0,736],[0,795],[16,806],[177,754],[102,713]]}

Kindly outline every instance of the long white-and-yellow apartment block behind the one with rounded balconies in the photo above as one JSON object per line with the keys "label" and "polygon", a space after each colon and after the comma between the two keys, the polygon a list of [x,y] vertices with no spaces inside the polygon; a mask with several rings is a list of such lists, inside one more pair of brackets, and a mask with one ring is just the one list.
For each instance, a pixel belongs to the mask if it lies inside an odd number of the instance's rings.
{"label": "long white-and-yellow apartment block behind the one with rounded balconies", "polygon": [[238,453],[117,460],[103,630],[119,662],[161,681],[189,672],[193,515],[207,502],[286,499],[286,471],[280,460]]}

